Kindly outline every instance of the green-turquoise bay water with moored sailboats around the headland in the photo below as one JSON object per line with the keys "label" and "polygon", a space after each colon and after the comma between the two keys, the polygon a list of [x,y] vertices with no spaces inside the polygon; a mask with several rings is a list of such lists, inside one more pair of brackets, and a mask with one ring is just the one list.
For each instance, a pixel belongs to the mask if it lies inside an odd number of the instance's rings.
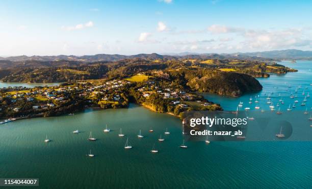
{"label": "green-turquoise bay water with moored sailboats around the headland", "polygon": [[[278,86],[276,92],[283,93],[289,83],[306,86],[311,82],[308,63],[291,65],[304,71],[259,79],[264,91],[271,92]],[[250,94],[240,99],[207,97],[226,110],[236,110],[240,100],[248,104]],[[111,132],[103,133],[105,124]],[[118,137],[119,128],[126,134],[124,138]],[[148,132],[150,128],[154,132]],[[166,128],[171,132],[168,136],[164,134]],[[73,134],[76,129],[82,132]],[[136,137],[139,129],[143,139]],[[179,119],[135,104],[129,109],[86,110],[74,116],[7,123],[0,126],[0,177],[39,178],[41,188],[311,186],[312,142],[187,142],[189,148],[180,149],[181,129]],[[90,131],[97,141],[87,141]],[[43,142],[45,134],[50,143]],[[160,134],[165,138],[162,143],[157,141]],[[134,147],[131,150],[123,148],[126,137]],[[158,154],[149,152],[154,143]],[[93,158],[86,156],[90,149]]]}

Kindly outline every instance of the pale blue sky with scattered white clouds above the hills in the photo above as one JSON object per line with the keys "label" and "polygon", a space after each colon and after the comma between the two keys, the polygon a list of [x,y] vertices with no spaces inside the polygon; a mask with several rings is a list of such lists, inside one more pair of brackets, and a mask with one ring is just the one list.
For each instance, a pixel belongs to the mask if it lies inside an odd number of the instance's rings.
{"label": "pale blue sky with scattered white clouds above the hills", "polygon": [[0,1],[0,56],[312,50],[312,1]]}

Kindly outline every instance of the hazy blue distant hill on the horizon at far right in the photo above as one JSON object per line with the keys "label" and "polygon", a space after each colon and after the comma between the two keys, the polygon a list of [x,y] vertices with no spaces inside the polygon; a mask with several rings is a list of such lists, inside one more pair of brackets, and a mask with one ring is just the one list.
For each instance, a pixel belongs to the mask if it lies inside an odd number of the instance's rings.
{"label": "hazy blue distant hill on the horizon at far right", "polygon": [[312,51],[309,50],[304,51],[297,49],[272,50],[263,52],[245,52],[245,53],[235,53],[232,55],[262,57],[279,60],[312,60]]}

